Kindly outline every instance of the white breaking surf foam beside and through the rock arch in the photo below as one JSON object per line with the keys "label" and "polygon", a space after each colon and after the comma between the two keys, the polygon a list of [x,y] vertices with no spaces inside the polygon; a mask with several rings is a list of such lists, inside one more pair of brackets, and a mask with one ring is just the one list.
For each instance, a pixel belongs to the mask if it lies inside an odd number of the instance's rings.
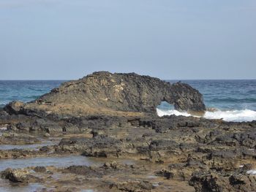
{"label": "white breaking surf foam beside and through the rock arch", "polygon": [[[178,112],[177,110],[160,110],[157,109],[157,115],[162,117],[163,115],[184,115],[191,116],[187,112]],[[206,111],[203,118],[208,119],[223,119],[225,121],[252,121],[256,120],[256,112],[253,110],[216,110],[214,112]]]}

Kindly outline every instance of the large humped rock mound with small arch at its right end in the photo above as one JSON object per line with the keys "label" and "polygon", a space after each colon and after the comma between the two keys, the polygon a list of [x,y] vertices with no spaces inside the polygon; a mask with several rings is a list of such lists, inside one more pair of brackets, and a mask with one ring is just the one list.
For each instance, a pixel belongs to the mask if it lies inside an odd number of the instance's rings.
{"label": "large humped rock mound with small arch at its right end", "polygon": [[191,86],[170,84],[135,73],[94,72],[80,80],[64,82],[59,88],[27,104],[12,102],[4,107],[10,114],[59,116],[156,114],[161,101],[176,110],[203,112],[202,95]]}

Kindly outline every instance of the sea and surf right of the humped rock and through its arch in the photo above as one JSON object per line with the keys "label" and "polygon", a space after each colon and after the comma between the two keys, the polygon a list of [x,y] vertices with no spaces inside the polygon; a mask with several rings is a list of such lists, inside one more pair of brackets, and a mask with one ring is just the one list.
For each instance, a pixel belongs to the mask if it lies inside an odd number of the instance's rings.
{"label": "sea and surf right of the humped rock and through its arch", "polygon": [[[169,82],[177,82],[169,80]],[[226,121],[256,120],[256,80],[181,80],[203,94],[208,110],[204,118],[223,119]],[[185,115],[166,102],[157,109],[162,115]]]}

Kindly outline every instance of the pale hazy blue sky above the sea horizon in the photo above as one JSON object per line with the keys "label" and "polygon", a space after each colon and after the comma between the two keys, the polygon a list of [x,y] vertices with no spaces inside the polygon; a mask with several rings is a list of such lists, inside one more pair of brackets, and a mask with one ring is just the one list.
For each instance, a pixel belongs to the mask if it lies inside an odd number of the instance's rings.
{"label": "pale hazy blue sky above the sea horizon", "polygon": [[0,0],[0,80],[256,79],[255,0]]}

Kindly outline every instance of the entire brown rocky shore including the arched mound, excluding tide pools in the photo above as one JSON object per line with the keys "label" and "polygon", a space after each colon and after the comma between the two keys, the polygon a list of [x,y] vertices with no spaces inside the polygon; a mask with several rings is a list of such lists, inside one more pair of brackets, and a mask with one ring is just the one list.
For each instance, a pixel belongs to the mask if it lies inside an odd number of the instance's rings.
{"label": "entire brown rocky shore including the arched mound, excluding tide pools", "polygon": [[2,164],[68,155],[95,164],[10,167],[1,178],[38,183],[36,191],[256,191],[256,121],[158,117],[161,101],[176,110],[206,110],[187,84],[108,72],[65,82],[26,104],[7,104],[0,110],[1,145],[57,142],[0,149]]}

